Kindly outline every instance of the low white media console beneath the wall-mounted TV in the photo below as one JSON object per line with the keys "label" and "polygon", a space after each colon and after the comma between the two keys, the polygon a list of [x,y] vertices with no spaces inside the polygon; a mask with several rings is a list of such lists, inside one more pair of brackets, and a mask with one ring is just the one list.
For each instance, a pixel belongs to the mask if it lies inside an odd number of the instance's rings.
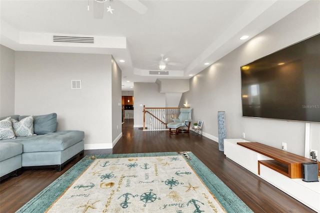
{"label": "low white media console beneath the wall-mounted TV", "polygon": [[[224,154],[229,159],[248,169],[255,175],[284,191],[311,209],[320,212],[320,182],[304,182],[302,178],[289,178],[276,169],[261,162],[274,160],[271,157],[243,147],[237,142],[250,142],[244,139],[224,139]],[[258,163],[259,161],[259,163]],[[272,166],[271,166],[272,167]]]}

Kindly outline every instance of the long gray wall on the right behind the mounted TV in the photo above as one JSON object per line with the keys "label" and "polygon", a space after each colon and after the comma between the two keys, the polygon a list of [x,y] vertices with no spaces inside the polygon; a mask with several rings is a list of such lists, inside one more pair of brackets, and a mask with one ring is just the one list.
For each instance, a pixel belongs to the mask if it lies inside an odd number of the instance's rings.
{"label": "long gray wall on the right behind the mounted TV", "polygon": [[[305,123],[241,116],[240,66],[320,32],[320,1],[309,1],[242,46],[190,79],[179,106],[189,103],[193,119],[203,120],[203,131],[216,138],[217,111],[226,113],[226,137],[250,141],[304,155]],[[311,123],[311,145],[320,153],[320,124]]]}

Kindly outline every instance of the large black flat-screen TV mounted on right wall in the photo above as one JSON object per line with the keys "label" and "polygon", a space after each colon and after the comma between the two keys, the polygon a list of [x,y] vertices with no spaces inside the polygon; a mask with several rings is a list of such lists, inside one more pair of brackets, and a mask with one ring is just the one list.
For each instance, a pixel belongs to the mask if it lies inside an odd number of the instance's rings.
{"label": "large black flat-screen TV mounted on right wall", "polygon": [[241,66],[242,116],[320,122],[320,34]]}

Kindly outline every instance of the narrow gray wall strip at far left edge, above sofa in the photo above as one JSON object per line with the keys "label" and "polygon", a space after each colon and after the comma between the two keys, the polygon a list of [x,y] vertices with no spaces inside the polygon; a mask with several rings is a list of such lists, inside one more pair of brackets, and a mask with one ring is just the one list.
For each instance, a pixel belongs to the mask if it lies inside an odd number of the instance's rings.
{"label": "narrow gray wall strip at far left edge, above sofa", "polygon": [[14,114],[14,51],[0,44],[0,116]]}

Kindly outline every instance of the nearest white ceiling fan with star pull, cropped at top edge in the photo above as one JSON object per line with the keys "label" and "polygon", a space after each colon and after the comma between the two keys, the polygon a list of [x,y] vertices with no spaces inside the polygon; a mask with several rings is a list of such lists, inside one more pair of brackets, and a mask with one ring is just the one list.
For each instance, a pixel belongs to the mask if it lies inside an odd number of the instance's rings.
{"label": "nearest white ceiling fan with star pull, cropped at top edge", "polygon": [[[111,1],[113,0],[93,0],[93,17],[94,18],[103,18],[103,13],[104,13],[104,3],[108,1],[109,5],[107,8],[107,11],[112,14],[112,8],[111,8]],[[128,7],[132,8],[136,12],[140,14],[144,14],[147,10],[147,7],[142,4],[139,0],[119,0]],[[88,5],[88,10],[89,10],[89,5]]]}

